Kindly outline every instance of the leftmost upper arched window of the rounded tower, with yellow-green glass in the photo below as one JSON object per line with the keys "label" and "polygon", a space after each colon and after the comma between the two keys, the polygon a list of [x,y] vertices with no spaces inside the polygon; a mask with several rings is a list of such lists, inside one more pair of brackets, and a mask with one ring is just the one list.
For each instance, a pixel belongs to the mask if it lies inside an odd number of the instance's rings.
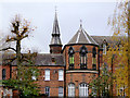
{"label": "leftmost upper arched window of the rounded tower, with yellow-green glass", "polygon": [[75,51],[74,51],[73,47],[70,47],[69,50],[68,50],[69,69],[74,69],[74,53],[75,53]]}

